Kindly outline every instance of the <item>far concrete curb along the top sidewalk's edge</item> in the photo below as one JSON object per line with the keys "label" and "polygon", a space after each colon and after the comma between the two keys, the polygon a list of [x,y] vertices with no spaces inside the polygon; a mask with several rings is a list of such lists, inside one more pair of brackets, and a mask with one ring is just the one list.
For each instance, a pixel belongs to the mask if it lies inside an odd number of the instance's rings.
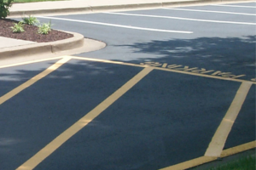
{"label": "far concrete curb along the top sidewalk's edge", "polygon": [[119,4],[108,6],[87,6],[78,8],[49,8],[42,10],[10,11],[9,17],[20,17],[24,15],[35,14],[65,14],[65,13],[91,13],[102,10],[117,10],[129,8],[164,8],[164,7],[181,7],[184,5],[200,5],[207,3],[232,3],[232,2],[253,2],[253,0],[182,0],[180,2],[165,3],[137,3],[137,4]]}

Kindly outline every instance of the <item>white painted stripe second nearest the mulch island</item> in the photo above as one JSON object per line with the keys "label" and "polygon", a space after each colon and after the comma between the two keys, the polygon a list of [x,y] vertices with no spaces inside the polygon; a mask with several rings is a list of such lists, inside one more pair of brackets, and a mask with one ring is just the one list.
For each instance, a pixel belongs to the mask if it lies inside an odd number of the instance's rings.
{"label": "white painted stripe second nearest the mulch island", "polygon": [[143,17],[174,19],[174,20],[193,20],[193,21],[200,21],[200,22],[214,22],[214,23],[223,23],[223,24],[253,25],[253,26],[256,25],[256,23],[250,23],[250,22],[233,22],[233,21],[223,21],[223,20],[200,20],[200,19],[190,19],[190,18],[160,16],[160,15],[149,15],[149,14],[126,14],[126,13],[111,13],[111,12],[103,13],[103,14],[120,14],[120,15],[129,15],[129,16],[143,16]]}

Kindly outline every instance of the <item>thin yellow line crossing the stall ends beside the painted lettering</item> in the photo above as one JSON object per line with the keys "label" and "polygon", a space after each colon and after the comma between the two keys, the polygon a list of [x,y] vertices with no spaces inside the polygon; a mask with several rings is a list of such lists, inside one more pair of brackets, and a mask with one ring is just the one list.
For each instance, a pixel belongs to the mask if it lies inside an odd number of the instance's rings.
{"label": "thin yellow line crossing the stall ends beside the painted lettering", "polygon": [[[112,64],[117,64],[117,65],[148,67],[148,65],[137,65],[137,64],[124,63],[124,62],[120,62],[120,61],[112,61],[112,60],[106,60],[106,59],[90,59],[90,58],[74,57],[74,56],[73,56],[73,59],[82,59],[82,60],[97,61],[97,62],[103,62],[103,63],[112,63]],[[165,66],[165,65],[163,65],[163,66]],[[171,69],[166,69],[166,68],[162,68],[162,67],[152,67],[152,68],[154,68],[154,70],[171,71],[171,72],[176,72],[176,73],[181,73],[181,74],[193,75],[193,76],[197,76],[197,77],[208,77],[208,78],[215,78],[215,79],[220,79],[220,80],[227,80],[227,81],[234,81],[234,82],[250,82],[250,83],[256,84],[256,82],[251,82],[251,81],[247,81],[247,80],[227,78],[227,77],[217,77],[217,76],[200,74],[200,73],[189,72],[189,71],[177,71],[177,70],[171,70]]]}

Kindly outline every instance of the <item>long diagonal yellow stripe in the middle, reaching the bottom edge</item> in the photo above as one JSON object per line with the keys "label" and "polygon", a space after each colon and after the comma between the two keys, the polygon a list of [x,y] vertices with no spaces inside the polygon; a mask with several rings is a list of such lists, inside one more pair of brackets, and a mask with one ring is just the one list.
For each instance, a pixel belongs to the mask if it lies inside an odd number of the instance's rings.
{"label": "long diagonal yellow stripe in the middle, reaching the bottom edge", "polygon": [[38,166],[41,161],[44,161],[51,153],[58,149],[61,144],[64,144],[67,139],[70,139],[75,133],[78,133],[83,127],[90,123],[96,116],[99,116],[102,111],[105,111],[114,101],[119,99],[123,94],[125,94],[129,89],[131,89],[137,82],[147,76],[153,68],[146,67],[143,71],[140,71],[135,77],[132,77],[130,81],[126,82],[121,88],[111,94],[107,99],[102,101],[100,105],[97,105],[92,111],[83,116],[78,122],[75,122],[71,127],[67,128],[66,131],[57,136],[49,144],[47,144],[42,150],[39,150],[38,153],[20,167],[17,170],[30,170]]}

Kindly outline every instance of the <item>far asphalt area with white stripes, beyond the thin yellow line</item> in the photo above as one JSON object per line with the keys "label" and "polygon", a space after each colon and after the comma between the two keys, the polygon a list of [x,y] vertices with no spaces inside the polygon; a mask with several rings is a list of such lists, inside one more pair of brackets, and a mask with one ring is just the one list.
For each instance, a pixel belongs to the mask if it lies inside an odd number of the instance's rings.
{"label": "far asphalt area with white stripes, beyond the thin yellow line", "polygon": [[[248,5],[253,6],[254,3]],[[236,75],[245,74],[250,79],[255,77],[254,15],[254,8],[207,5],[111,14],[75,14],[42,20],[53,20],[58,29],[65,26],[67,30],[82,33],[84,37],[108,43],[108,48],[78,56],[136,63],[155,61],[189,65]]]}

